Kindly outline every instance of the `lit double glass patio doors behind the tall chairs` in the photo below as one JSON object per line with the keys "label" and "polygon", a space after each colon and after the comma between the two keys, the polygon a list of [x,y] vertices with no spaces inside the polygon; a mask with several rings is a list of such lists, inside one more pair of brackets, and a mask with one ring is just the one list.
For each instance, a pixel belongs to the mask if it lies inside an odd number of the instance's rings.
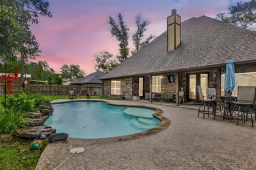
{"label": "lit double glass patio doors behind the tall chairs", "polygon": [[191,73],[188,75],[188,101],[198,102],[196,86],[202,87],[202,92],[206,98],[206,91],[209,86],[209,73]]}

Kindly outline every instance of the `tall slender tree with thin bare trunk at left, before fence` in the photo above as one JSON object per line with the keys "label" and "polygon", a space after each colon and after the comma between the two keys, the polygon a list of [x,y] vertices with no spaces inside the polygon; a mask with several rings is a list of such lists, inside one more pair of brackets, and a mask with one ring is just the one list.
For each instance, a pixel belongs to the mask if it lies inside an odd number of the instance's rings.
{"label": "tall slender tree with thin bare trunk at left, before fence", "polygon": [[[20,23],[22,25],[26,25],[29,22],[32,24],[38,24],[38,17],[39,15],[52,17],[51,12],[49,12],[49,3],[48,1],[43,0],[15,0],[19,6],[20,10],[23,13],[29,14],[29,19],[21,18]],[[29,38],[30,35],[30,38]],[[24,74],[24,65],[26,59],[32,58],[34,59],[35,56],[38,55],[39,44],[36,41],[35,36],[31,34],[30,31],[24,34],[24,39],[21,41],[22,45],[20,47],[20,83],[23,81],[23,74]]]}

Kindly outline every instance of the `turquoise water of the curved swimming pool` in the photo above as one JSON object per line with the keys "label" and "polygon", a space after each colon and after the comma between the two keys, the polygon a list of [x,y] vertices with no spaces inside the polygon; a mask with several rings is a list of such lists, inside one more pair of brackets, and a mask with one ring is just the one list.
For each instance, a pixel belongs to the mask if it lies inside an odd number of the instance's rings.
{"label": "turquoise water of the curved swimming pool", "polygon": [[83,101],[54,104],[52,116],[44,125],[65,132],[69,137],[98,139],[136,134],[156,127],[161,121],[153,118],[156,111],[143,107],[109,105]]}

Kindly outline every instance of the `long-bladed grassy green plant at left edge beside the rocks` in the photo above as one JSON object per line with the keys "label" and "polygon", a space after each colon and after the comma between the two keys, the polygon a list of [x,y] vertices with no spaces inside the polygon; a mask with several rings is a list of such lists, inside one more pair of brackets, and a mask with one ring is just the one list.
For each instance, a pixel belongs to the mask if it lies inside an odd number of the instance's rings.
{"label": "long-bladed grassy green plant at left edge beside the rocks", "polygon": [[29,127],[26,113],[19,109],[0,110],[0,134],[15,134],[19,128]]}

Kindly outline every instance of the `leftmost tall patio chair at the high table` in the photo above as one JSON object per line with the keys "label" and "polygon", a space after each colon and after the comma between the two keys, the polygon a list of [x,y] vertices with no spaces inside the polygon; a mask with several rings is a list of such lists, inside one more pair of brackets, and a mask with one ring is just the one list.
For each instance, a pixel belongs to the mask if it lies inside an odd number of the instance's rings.
{"label": "leftmost tall patio chair at the high table", "polygon": [[[199,117],[200,113],[203,113],[204,117],[205,117],[205,107],[207,107],[207,114],[208,114],[208,117],[209,117],[210,109],[212,107],[211,114],[214,114],[214,120],[215,120],[215,117],[216,117],[215,99],[210,99],[210,98],[205,99],[204,96],[203,96],[202,87],[201,86],[196,86],[196,88],[197,88],[197,91],[198,91],[198,97],[199,97],[199,101],[200,101],[200,107],[198,109],[198,117]],[[204,111],[201,111],[202,105],[204,105]]]}

